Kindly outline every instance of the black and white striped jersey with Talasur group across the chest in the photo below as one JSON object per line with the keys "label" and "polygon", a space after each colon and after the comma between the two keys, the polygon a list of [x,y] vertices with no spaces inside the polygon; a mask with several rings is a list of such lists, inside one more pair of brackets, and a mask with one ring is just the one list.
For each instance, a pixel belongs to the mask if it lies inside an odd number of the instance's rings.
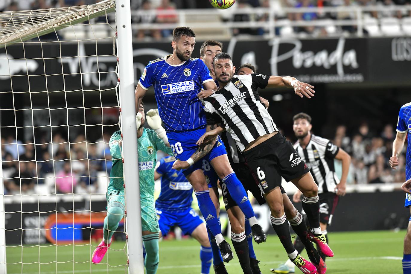
{"label": "black and white striped jersey with Talasur group across the chest", "polygon": [[240,151],[256,138],[278,131],[257,91],[267,86],[268,78],[262,74],[235,75],[224,88],[203,99],[207,124],[223,122]]}

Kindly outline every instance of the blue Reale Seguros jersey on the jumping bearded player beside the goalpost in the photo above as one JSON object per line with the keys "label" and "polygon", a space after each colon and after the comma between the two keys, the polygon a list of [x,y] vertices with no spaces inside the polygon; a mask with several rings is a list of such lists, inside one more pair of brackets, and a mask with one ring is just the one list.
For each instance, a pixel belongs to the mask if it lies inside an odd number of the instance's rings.
{"label": "blue Reale Seguros jersey on the jumping bearded player beside the goalpost", "polygon": [[166,62],[170,55],[150,61],[139,84],[154,86],[158,112],[166,131],[186,131],[205,127],[204,106],[197,98],[203,84],[213,81],[210,71],[199,58],[179,65]]}

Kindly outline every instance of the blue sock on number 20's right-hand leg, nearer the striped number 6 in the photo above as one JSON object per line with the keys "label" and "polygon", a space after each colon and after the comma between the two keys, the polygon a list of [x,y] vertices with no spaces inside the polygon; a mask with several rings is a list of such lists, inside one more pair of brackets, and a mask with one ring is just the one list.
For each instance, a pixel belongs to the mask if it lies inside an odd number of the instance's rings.
{"label": "blue sock on number 20's right-hand leg, nearer the striped number 6", "polygon": [[247,219],[254,217],[254,210],[248,200],[247,192],[245,192],[244,187],[238,180],[236,173],[230,173],[224,177],[223,182],[229,189],[231,198],[233,198],[234,202],[236,202],[236,204],[240,207],[245,217]]}

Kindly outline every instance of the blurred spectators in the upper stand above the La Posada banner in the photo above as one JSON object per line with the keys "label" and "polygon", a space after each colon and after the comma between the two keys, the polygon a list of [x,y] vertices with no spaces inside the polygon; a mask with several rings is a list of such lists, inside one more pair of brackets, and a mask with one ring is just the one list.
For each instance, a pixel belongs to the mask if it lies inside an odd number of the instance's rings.
{"label": "blurred spectators in the upper stand above the La Posada banner", "polygon": [[[2,0],[0,1],[0,12],[2,11],[17,11],[28,9],[49,9],[56,7],[67,7],[76,5],[90,5],[100,0]],[[302,12],[302,13],[286,13],[284,8],[288,7],[369,7],[369,6],[382,6],[382,7],[395,7],[395,6],[410,6],[411,0],[237,0],[236,5],[229,10],[225,10],[221,13],[222,21],[231,22],[250,22],[250,21],[268,21],[269,16],[267,13],[254,13],[249,14],[244,12],[236,12],[245,8],[274,8],[276,11],[276,20],[288,20],[288,21],[315,21],[320,19],[336,19],[336,20],[355,20],[356,12],[352,11],[339,11],[339,12]],[[132,16],[133,23],[178,23],[178,14],[175,12],[177,9],[199,9],[199,8],[212,8],[208,1],[192,1],[192,0],[131,0],[132,11],[143,10],[143,13],[134,14]],[[157,11],[168,11],[167,14],[158,14]],[[373,18],[404,18],[411,16],[411,9],[408,11],[399,11],[391,9],[383,9],[382,11],[367,12],[364,17]],[[326,36],[330,30],[327,30],[327,26],[294,26],[292,32],[300,34],[309,34],[314,36]],[[280,34],[281,27],[276,27],[275,32]],[[267,32],[267,29],[263,28],[233,28],[232,35],[263,35]],[[356,25],[343,25],[338,30],[332,32],[338,33],[356,33]],[[363,30],[367,35],[368,31]],[[171,30],[143,30],[139,28],[136,31],[136,38],[138,39],[162,39],[168,38],[171,35]]]}

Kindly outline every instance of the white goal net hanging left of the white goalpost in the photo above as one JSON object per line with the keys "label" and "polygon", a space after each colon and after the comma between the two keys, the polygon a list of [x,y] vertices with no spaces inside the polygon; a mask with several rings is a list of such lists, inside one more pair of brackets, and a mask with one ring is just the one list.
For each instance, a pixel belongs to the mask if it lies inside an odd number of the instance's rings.
{"label": "white goal net hanging left of the white goalpost", "polygon": [[91,263],[121,124],[113,11],[0,12],[0,273],[127,272],[123,220]]}

